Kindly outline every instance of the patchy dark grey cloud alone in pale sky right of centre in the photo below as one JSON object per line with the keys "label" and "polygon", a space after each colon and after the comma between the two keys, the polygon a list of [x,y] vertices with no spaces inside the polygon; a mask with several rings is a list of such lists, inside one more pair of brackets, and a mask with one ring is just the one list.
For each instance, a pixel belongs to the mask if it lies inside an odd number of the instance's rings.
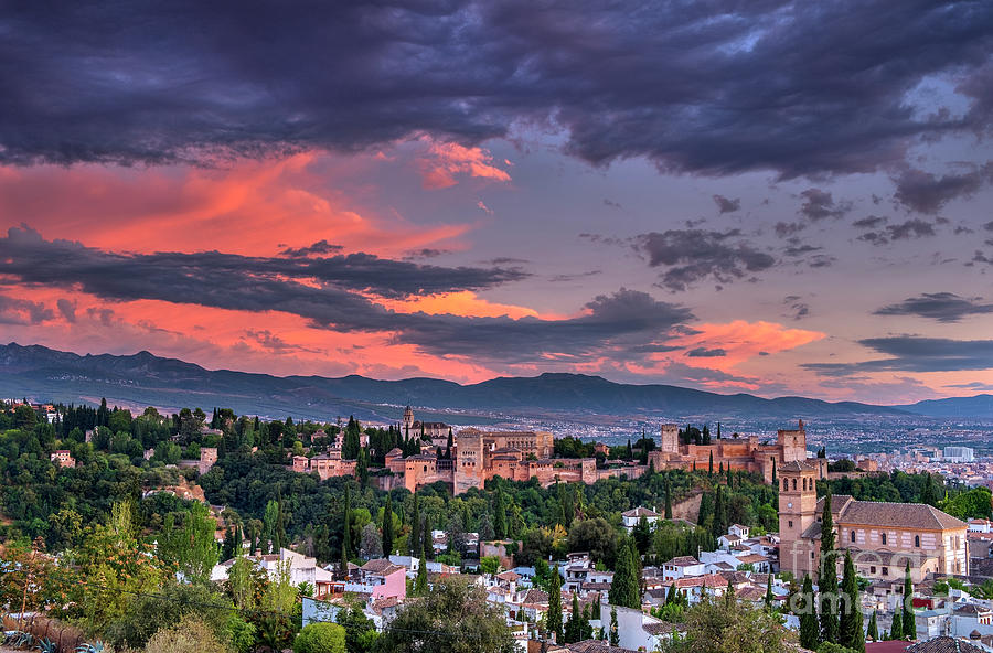
{"label": "patchy dark grey cloud alone in pale sky right of centre", "polygon": [[741,238],[739,229],[669,229],[634,237],[634,249],[651,267],[664,267],[661,285],[686,290],[707,278],[720,283],[771,268],[776,259]]}

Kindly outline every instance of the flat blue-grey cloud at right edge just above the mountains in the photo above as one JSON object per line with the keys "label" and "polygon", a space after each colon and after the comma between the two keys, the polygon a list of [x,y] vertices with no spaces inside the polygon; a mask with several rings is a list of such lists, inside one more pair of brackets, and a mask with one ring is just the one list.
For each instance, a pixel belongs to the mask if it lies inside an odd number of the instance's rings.
{"label": "flat blue-grey cloud at right edge just above the mountains", "polygon": [[869,338],[858,343],[891,357],[859,363],[807,363],[802,366],[824,376],[851,376],[866,372],[955,372],[993,368],[993,340],[896,335]]}

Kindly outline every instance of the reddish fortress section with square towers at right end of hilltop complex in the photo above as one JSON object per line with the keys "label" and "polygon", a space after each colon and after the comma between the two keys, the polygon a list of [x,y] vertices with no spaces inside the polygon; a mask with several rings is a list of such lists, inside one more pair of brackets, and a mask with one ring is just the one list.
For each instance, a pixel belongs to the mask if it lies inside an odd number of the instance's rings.
{"label": "reddish fortress section with square towers at right end of hilltop complex", "polygon": [[649,452],[649,460],[656,470],[693,467],[705,470],[713,459],[715,470],[723,467],[755,472],[770,483],[773,469],[794,460],[807,459],[807,430],[802,419],[796,429],[777,431],[775,443],[762,443],[756,436],[749,436],[717,439],[709,445],[683,445],[680,442],[677,425],[663,424],[661,431],[659,448]]}

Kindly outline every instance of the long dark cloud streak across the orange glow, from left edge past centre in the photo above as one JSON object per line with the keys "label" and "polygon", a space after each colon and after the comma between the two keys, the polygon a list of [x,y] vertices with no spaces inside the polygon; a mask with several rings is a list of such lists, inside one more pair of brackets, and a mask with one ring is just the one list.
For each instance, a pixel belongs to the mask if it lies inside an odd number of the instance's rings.
{"label": "long dark cloud streak across the orange glow, from left edge past centre", "polygon": [[[526,275],[501,268],[415,265],[365,254],[308,259],[216,251],[125,255],[68,240],[45,240],[29,228],[11,228],[7,237],[0,237],[0,275],[29,287],[72,288],[111,301],[153,299],[231,310],[282,311],[319,329],[389,332],[395,342],[431,354],[508,363],[547,360],[552,354],[563,360],[580,360],[597,352],[626,356],[631,347],[660,344],[694,319],[684,307],[623,288],[596,297],[584,307],[584,314],[567,320],[395,313],[360,292],[403,298],[490,288]],[[320,286],[313,286],[313,279]],[[34,310],[36,319],[52,317],[41,304],[30,303],[10,306]],[[104,314],[90,314],[109,322],[113,311],[105,310]],[[255,340],[263,345],[278,344],[265,338]]]}

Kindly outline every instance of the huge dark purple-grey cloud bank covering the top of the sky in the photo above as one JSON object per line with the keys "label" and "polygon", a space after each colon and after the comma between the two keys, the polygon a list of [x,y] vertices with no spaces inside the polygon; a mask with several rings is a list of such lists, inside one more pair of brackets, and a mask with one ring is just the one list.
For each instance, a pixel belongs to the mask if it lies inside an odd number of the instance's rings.
{"label": "huge dark purple-grey cloud bank covering the top of the sky", "polygon": [[[989,130],[991,26],[984,0],[24,3],[0,15],[0,160],[477,143],[522,124],[595,164],[896,169],[923,138]],[[907,101],[952,74],[963,115]]]}

